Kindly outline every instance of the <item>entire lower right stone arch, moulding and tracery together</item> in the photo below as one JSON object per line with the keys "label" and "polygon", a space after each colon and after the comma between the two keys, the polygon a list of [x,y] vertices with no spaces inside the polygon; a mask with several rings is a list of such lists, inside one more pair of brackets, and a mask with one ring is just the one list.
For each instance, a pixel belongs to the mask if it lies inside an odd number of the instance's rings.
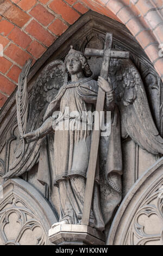
{"label": "entire lower right stone arch, moulding and tracery together", "polygon": [[123,199],[107,245],[163,245],[163,157],[149,168]]}

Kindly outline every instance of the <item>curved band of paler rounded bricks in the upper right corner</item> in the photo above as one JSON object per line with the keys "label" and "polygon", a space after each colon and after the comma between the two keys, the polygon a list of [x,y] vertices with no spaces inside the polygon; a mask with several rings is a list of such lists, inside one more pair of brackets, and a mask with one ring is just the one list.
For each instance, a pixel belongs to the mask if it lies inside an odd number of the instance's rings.
{"label": "curved band of paler rounded bricks in the upper right corner", "polygon": [[[95,11],[114,14],[129,29],[153,63],[163,81],[163,58],[159,56],[163,44],[163,0],[83,0]],[[102,7],[104,9],[102,9]],[[163,46],[162,46],[163,48]]]}

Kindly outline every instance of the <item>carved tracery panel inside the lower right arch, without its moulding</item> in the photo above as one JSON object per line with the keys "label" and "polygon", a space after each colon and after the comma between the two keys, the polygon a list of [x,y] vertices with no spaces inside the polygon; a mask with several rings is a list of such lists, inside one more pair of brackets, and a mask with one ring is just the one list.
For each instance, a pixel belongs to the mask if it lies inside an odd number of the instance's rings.
{"label": "carved tracery panel inside the lower right arch, without its moulding", "polygon": [[124,245],[163,245],[163,183],[149,193],[136,211]]}

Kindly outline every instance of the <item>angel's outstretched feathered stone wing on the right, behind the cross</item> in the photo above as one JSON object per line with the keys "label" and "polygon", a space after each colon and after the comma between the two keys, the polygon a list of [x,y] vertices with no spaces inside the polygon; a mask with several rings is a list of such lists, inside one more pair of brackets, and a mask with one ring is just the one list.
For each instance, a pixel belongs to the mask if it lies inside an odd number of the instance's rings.
{"label": "angel's outstretched feathered stone wing on the right, behind the cross", "polygon": [[109,76],[122,126],[133,141],[152,154],[163,154],[163,139],[154,124],[139,71],[128,60],[112,60]]}

